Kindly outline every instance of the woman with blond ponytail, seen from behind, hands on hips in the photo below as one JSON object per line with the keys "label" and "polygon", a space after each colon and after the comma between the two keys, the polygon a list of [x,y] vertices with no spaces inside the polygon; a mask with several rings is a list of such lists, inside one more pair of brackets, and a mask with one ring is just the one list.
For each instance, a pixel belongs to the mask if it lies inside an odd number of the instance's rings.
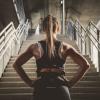
{"label": "woman with blond ponytail, seen from behind, hands on hips", "polygon": [[[82,78],[90,65],[73,47],[57,40],[56,33],[59,31],[59,25],[55,17],[48,15],[43,20],[43,31],[46,39],[30,45],[17,58],[13,67],[30,87],[34,86],[34,100],[71,100],[68,88],[74,86]],[[37,64],[35,82],[21,67],[33,56]],[[80,65],[77,75],[69,81],[63,77],[65,74],[63,65],[67,56]]]}

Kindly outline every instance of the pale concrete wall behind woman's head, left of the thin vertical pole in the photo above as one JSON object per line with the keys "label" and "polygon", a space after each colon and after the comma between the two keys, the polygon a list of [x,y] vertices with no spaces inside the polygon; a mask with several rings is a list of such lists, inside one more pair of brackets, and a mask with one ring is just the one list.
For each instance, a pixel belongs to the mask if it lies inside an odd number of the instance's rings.
{"label": "pale concrete wall behind woman's head, left of the thin vertical pole", "polygon": [[[47,1],[44,2],[47,4]],[[31,13],[31,19],[32,19],[32,28],[36,28],[38,23],[40,22],[40,18],[46,17],[48,14],[51,14],[52,16],[57,17],[59,23],[61,24],[61,8],[59,5],[58,0],[48,0],[48,6],[44,4],[44,8],[38,10],[37,12]]]}

